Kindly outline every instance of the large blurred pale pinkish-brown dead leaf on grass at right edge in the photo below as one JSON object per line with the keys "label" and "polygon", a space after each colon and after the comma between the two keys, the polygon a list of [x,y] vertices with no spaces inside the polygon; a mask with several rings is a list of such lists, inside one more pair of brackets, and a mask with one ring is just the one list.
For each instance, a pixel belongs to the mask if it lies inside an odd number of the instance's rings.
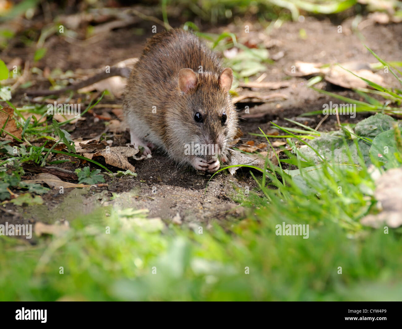
{"label": "large blurred pale pinkish-brown dead leaf on grass at right edge", "polygon": [[361,224],[379,228],[402,225],[402,168],[387,170],[375,181],[374,196],[382,208],[379,214],[367,215]]}

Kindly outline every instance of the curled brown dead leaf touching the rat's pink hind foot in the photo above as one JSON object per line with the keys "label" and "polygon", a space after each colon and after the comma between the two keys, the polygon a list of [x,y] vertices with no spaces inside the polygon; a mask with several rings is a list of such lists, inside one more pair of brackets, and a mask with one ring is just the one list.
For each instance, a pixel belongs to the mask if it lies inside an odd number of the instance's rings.
{"label": "curled brown dead leaf touching the rat's pink hind foot", "polygon": [[138,152],[138,148],[127,146],[112,146],[100,152],[84,153],[83,155],[89,159],[96,158],[97,156],[103,156],[103,158],[105,158],[105,162],[108,165],[121,169],[129,169],[131,171],[135,171],[135,167],[131,165],[130,162],[128,162],[127,158],[135,158],[136,160],[142,160],[146,158],[146,156],[141,156],[139,158],[135,157],[135,154],[137,154]]}

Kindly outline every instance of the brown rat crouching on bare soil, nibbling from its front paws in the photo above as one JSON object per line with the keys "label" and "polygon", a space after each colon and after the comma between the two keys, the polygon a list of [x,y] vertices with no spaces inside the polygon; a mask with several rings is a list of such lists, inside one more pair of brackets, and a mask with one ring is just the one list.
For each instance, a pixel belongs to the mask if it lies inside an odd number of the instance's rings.
{"label": "brown rat crouching on bare soil, nibbling from its front paws", "polygon": [[154,35],[125,88],[131,144],[143,146],[144,154],[154,144],[179,165],[217,171],[237,132],[232,81],[232,69],[222,68],[192,33],[172,29]]}

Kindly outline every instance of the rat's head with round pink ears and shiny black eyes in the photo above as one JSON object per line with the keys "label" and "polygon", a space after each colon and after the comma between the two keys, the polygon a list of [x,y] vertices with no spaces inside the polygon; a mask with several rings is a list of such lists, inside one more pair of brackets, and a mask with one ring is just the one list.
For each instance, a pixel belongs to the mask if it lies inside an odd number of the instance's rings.
{"label": "rat's head with round pink ears and shiny black eyes", "polygon": [[229,95],[232,82],[230,68],[223,69],[219,75],[196,73],[189,68],[178,72],[176,113],[180,121],[185,121],[185,130],[177,133],[185,155],[227,161],[238,125],[238,115]]}

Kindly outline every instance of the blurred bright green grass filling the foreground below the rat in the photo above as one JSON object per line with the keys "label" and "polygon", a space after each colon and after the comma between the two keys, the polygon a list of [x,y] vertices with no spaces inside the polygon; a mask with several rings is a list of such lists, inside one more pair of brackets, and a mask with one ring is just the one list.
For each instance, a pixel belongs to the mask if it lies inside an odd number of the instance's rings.
{"label": "blurred bright green grass filling the foreground below the rat", "polygon": [[[400,230],[359,224],[375,208],[363,156],[343,166],[322,158],[316,175],[299,177],[305,186],[271,166],[277,175],[256,177],[259,189],[236,191],[244,220],[202,234],[108,206],[33,247],[0,236],[1,299],[401,300]],[[308,239],[276,235],[282,222],[308,224]]]}

